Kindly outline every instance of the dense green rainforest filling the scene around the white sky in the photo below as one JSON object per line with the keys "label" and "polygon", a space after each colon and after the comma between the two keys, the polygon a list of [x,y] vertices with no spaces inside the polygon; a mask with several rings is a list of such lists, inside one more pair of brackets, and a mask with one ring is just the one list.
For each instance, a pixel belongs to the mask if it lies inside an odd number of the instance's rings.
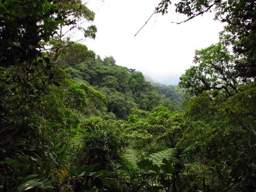
{"label": "dense green rainforest filling the scene around the white sky", "polygon": [[227,22],[181,89],[70,41],[82,1],[0,3],[0,191],[255,191],[255,2],[175,6]]}

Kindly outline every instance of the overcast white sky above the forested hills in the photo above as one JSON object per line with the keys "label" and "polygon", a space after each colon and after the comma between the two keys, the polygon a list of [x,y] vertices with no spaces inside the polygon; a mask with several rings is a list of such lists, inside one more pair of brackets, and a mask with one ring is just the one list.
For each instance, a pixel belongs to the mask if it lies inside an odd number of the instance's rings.
{"label": "overcast white sky above the forested hills", "polygon": [[[185,17],[173,9],[166,15],[155,14],[140,33],[137,31],[154,12],[160,0],[91,0],[95,12],[95,40],[86,40],[89,49],[100,55],[113,55],[117,65],[142,71],[154,81],[166,83],[193,64],[194,52],[218,42],[223,25],[207,13],[177,25]],[[174,80],[173,80],[174,79]]]}

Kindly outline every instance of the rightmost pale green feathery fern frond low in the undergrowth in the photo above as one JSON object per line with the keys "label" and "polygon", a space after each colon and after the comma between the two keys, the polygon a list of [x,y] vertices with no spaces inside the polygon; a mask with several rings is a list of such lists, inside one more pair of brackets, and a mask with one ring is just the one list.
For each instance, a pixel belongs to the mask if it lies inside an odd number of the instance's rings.
{"label": "rightmost pale green feathery fern frond low in the undergrowth", "polygon": [[162,151],[158,151],[157,153],[151,154],[148,159],[152,161],[155,165],[160,167],[163,165],[163,159],[170,159],[177,154],[177,149],[169,148]]}

